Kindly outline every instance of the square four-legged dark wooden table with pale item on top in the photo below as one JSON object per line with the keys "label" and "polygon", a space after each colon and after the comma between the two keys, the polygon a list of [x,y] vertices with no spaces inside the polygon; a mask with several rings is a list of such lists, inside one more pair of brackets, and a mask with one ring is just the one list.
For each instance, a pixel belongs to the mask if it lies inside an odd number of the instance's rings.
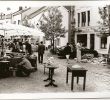
{"label": "square four-legged dark wooden table with pale item on top", "polygon": [[66,83],[68,83],[68,73],[71,72],[72,73],[72,76],[71,76],[71,90],[73,90],[74,77],[77,77],[77,84],[79,82],[79,77],[84,77],[83,90],[85,90],[87,70],[83,67],[73,68],[72,66],[73,65],[67,65]]}

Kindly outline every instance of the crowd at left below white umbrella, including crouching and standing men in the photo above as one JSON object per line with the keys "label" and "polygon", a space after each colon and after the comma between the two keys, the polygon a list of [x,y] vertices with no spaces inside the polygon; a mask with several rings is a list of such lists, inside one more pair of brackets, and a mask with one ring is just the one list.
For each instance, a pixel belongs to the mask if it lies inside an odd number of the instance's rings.
{"label": "crowd at left below white umbrella, including crouching and standing men", "polygon": [[[5,43],[5,42],[4,42]],[[2,46],[4,46],[2,44]],[[4,47],[3,47],[4,48]],[[9,41],[5,43],[5,51],[2,55],[6,57],[6,51],[10,50],[11,53],[20,53],[21,61],[17,65],[17,75],[18,76],[29,76],[31,72],[36,69],[32,66],[33,64],[29,61],[28,57],[37,57],[39,63],[43,63],[43,54],[45,51],[45,45],[41,41],[40,43],[36,41],[36,43],[29,43],[28,40],[22,42],[20,39],[14,39],[13,41]],[[37,54],[38,52],[38,55]]]}

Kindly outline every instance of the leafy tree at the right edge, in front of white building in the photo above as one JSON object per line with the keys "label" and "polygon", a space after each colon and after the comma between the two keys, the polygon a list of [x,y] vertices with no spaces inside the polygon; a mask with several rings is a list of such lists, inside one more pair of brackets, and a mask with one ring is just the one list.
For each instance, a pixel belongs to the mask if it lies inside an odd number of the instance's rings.
{"label": "leafy tree at the right edge, in front of white building", "polygon": [[99,14],[100,14],[100,18],[101,20],[98,21],[99,24],[99,36],[100,37],[107,37],[110,35],[110,21],[109,21],[109,14],[108,14],[108,10],[107,10],[108,6],[103,7],[103,8],[99,8]]}

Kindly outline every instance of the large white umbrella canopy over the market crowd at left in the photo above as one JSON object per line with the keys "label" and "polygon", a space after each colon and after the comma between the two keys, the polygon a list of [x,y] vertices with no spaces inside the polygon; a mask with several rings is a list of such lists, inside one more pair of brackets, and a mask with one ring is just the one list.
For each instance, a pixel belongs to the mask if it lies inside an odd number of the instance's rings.
{"label": "large white umbrella canopy over the market crowd at left", "polygon": [[9,36],[44,36],[44,33],[41,32],[38,29],[33,29],[30,27],[22,26],[22,25],[15,25],[10,23],[3,23],[0,24],[0,30],[3,32],[0,32],[1,35],[5,36],[5,33],[7,31]]}

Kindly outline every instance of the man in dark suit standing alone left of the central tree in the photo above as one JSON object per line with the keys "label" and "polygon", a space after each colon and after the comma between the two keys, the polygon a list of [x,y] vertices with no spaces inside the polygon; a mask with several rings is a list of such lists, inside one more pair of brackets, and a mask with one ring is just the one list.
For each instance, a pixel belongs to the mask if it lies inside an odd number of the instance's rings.
{"label": "man in dark suit standing alone left of the central tree", "polygon": [[45,51],[45,45],[43,45],[43,42],[41,41],[41,44],[38,46],[38,60],[39,60],[39,63],[43,63],[44,51]]}

